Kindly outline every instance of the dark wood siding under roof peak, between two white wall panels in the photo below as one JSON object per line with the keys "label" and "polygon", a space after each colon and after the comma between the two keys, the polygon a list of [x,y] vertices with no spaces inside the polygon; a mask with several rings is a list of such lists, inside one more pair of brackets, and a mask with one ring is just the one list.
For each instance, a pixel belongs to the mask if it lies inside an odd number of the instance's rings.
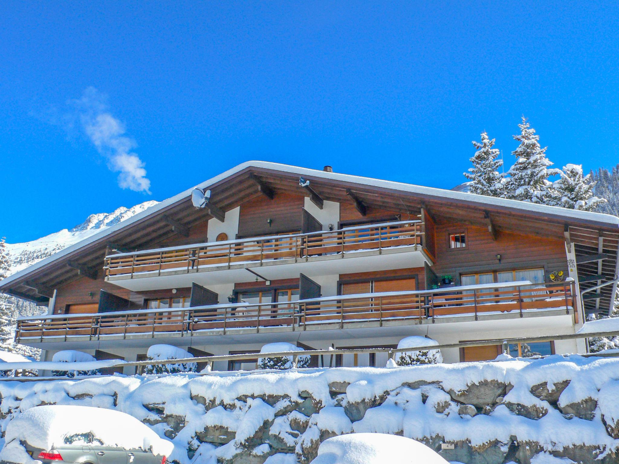
{"label": "dark wood siding under roof peak, between two white wall panels", "polygon": [[[252,237],[300,231],[304,198],[301,195],[276,194],[272,200],[260,197],[242,204],[238,236]],[[267,219],[271,219],[271,225],[267,223]]]}

